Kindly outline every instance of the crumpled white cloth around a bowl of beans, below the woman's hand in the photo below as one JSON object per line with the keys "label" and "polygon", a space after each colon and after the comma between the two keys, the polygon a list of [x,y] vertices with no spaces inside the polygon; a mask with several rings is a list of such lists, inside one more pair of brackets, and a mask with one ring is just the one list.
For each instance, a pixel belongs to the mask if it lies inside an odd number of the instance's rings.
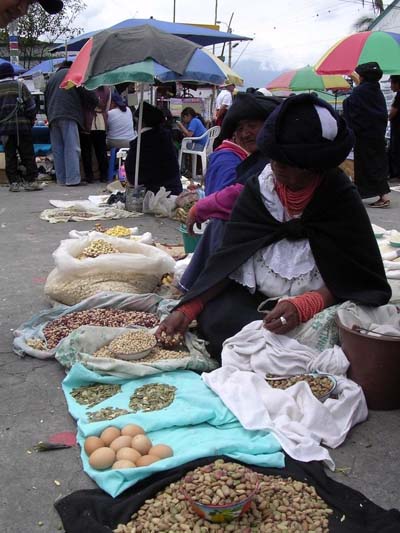
{"label": "crumpled white cloth around a bowl of beans, below the woman's hand", "polygon": [[[283,449],[299,461],[334,462],[322,445],[336,448],[349,430],[368,416],[364,393],[345,377],[343,351],[318,352],[255,321],[224,342],[222,367],[203,373],[204,382],[248,430],[272,431]],[[335,375],[337,399],[321,403],[300,382],[286,390],[265,381],[267,373],[292,375],[319,371]]]}

